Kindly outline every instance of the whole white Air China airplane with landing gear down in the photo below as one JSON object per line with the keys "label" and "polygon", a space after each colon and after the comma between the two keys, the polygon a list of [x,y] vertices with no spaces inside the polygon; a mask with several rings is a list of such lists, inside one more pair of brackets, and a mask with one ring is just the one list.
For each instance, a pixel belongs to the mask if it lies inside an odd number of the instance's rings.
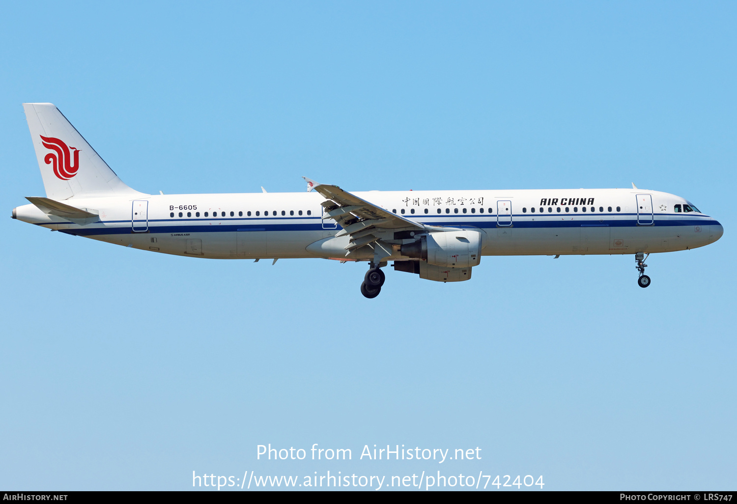
{"label": "whole white Air China airplane with landing gear down", "polygon": [[46,197],[13,219],[143,251],[205,259],[321,258],[467,281],[482,256],[631,254],[648,287],[650,253],[702,247],[724,229],[693,203],[638,189],[347,192],[310,178],[306,192],[149,195],[125,185],[52,103],[24,103]]}

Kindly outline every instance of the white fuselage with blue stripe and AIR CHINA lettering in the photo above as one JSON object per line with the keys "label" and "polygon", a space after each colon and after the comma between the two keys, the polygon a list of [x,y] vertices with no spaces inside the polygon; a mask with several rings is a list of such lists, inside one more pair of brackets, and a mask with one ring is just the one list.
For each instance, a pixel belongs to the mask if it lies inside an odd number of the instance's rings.
{"label": "white fuselage with blue stripe and AIR CHINA lettering", "polygon": [[[418,223],[481,229],[485,256],[680,251],[708,245],[723,232],[699,211],[675,211],[690,205],[682,197],[642,189],[354,194]],[[340,228],[321,218],[324,200],[314,192],[72,197],[64,203],[94,211],[99,222],[69,223],[33,205],[18,207],[14,216],[68,234],[181,256],[344,259],[347,241],[332,238]],[[402,259],[398,246],[389,259]]]}

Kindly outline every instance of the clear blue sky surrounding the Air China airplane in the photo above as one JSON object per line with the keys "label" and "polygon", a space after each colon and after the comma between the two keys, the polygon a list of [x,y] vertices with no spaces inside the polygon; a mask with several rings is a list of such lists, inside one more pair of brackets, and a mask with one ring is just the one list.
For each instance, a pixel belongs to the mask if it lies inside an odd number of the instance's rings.
{"label": "clear blue sky surrounding the Air China airplane", "polygon": [[[0,487],[191,489],[446,470],[256,445],[481,447],[545,489],[737,483],[729,2],[7,4],[2,208],[43,195],[21,102],[143,192],[627,187],[724,225],[651,256],[485,257],[459,284],[195,260],[0,220]],[[450,465],[450,464],[448,464]],[[456,487],[458,488],[458,487]],[[525,487],[523,486],[523,489]],[[512,487],[516,491],[516,487]]]}

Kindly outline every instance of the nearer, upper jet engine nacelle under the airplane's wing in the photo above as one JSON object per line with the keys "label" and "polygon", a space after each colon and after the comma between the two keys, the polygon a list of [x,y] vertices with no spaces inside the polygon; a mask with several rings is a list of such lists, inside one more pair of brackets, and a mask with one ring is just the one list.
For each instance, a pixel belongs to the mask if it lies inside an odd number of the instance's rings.
{"label": "nearer, upper jet engine nacelle under the airplane's wing", "polygon": [[481,262],[481,232],[437,231],[423,235],[414,243],[402,245],[402,256],[423,259],[439,267],[472,267]]}

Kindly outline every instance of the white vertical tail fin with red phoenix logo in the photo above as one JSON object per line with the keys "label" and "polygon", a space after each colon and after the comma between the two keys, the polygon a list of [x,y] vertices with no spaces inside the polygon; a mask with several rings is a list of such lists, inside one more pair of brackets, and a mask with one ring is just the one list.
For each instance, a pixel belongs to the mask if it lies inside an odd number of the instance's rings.
{"label": "white vertical tail fin with red phoenix logo", "polygon": [[46,196],[137,197],[52,103],[24,103]]}

